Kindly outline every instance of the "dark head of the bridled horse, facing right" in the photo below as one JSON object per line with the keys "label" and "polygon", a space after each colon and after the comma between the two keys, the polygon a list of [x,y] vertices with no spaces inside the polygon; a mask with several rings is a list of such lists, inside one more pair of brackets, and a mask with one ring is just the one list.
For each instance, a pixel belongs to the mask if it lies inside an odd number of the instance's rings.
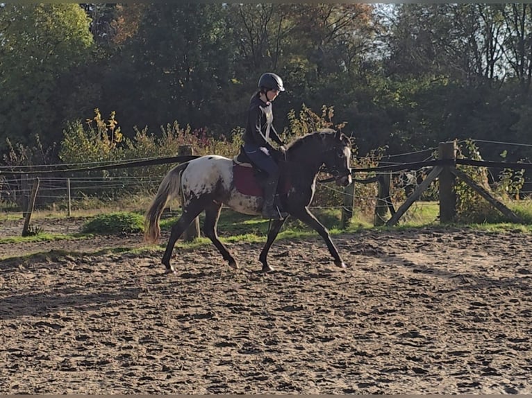
{"label": "dark head of the bridled horse, facing right", "polygon": [[335,130],[324,130],[319,133],[322,137],[326,171],[335,178],[338,186],[347,187],[351,184],[351,141],[349,137]]}

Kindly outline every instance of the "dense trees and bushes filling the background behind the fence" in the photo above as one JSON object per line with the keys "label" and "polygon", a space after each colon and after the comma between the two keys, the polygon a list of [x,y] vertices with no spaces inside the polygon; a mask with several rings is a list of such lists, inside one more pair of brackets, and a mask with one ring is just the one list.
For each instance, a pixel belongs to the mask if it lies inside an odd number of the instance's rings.
{"label": "dense trees and bushes filling the background behind the fence", "polygon": [[[185,144],[200,155],[233,155],[264,71],[285,80],[274,103],[285,139],[331,126],[356,137],[356,153],[407,153],[452,139],[526,144],[531,29],[530,4],[6,3],[1,159],[55,163],[61,139],[61,159],[72,163],[176,155]],[[95,104],[111,116],[90,126],[83,121]],[[119,130],[109,124],[114,112]],[[482,150],[490,160],[501,152]],[[515,146],[505,159],[530,162],[532,150]],[[354,155],[357,162],[376,159]],[[133,175],[134,189],[149,190],[169,167],[92,175]],[[496,177],[501,196],[523,195],[524,173]],[[330,188],[318,185],[315,202],[338,205],[341,193]],[[356,200],[374,200],[372,189],[362,186]]]}

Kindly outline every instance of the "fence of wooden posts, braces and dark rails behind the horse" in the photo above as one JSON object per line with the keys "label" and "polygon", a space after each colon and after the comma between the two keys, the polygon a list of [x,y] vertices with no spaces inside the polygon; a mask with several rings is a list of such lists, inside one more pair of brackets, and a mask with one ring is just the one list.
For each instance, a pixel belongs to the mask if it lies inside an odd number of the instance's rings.
{"label": "fence of wooden posts, braces and dark rails behind the horse", "polygon": [[[22,186],[20,194],[22,195],[22,209],[24,214],[28,214],[31,211],[30,205],[35,203],[35,198],[31,198],[30,192],[30,176],[36,176],[40,182],[40,189],[48,193],[49,198],[62,198],[68,201],[68,209],[70,215],[72,200],[81,199],[83,196],[77,196],[76,192],[97,190],[98,184],[105,180],[105,189],[126,189],[128,187],[154,187],[160,181],[158,176],[137,176],[128,177],[109,176],[106,178],[94,178],[94,177],[74,177],[74,173],[88,173],[91,171],[110,171],[118,168],[133,168],[142,166],[153,166],[161,164],[172,164],[188,162],[191,159],[195,159],[198,156],[193,155],[193,149],[187,146],[182,148],[178,156],[173,157],[158,157],[148,159],[133,159],[124,162],[114,162],[109,164],[90,164],[89,166],[79,167],[77,164],[69,164],[66,167],[61,165],[39,165],[39,166],[19,166],[19,167],[0,167],[0,198],[5,197],[6,191],[3,189],[3,185],[19,184]],[[447,143],[440,143],[438,147],[438,158],[424,160],[422,162],[405,162],[399,164],[379,164],[375,167],[365,168],[353,168],[352,174],[354,176],[354,183],[344,189],[344,200],[342,205],[339,205],[342,209],[342,226],[349,223],[349,220],[354,214],[354,198],[356,198],[355,183],[357,184],[371,184],[377,183],[376,187],[376,207],[375,207],[375,225],[395,225],[408,210],[408,208],[419,199],[423,191],[429,187],[431,182],[438,178],[439,184],[439,202],[440,202],[440,222],[447,223],[453,220],[455,215],[456,198],[454,197],[453,186],[456,178],[465,181],[472,189],[477,191],[483,198],[488,200],[494,207],[502,211],[510,220],[518,221],[519,218],[515,216],[509,209],[501,204],[498,200],[492,198],[488,191],[485,191],[481,187],[476,186],[474,182],[467,178],[462,172],[456,169],[457,165],[474,166],[474,167],[487,167],[487,168],[506,168],[511,170],[528,170],[532,168],[532,164],[521,162],[491,162],[484,160],[474,159],[462,159],[456,158],[456,141]],[[429,171],[426,178],[419,183],[415,191],[410,193],[406,198],[406,201],[397,209],[394,210],[390,200],[391,189],[391,175],[394,173],[419,171],[420,169],[426,169]],[[368,178],[357,178],[357,174],[365,173],[369,174]],[[49,177],[48,177],[49,176]],[[10,179],[8,179],[10,177]],[[332,178],[326,178],[319,180],[319,182],[330,182]],[[2,183],[3,182],[3,183]],[[100,187],[100,189],[102,189]],[[57,196],[52,193],[58,193]],[[60,194],[63,193],[63,194]],[[42,195],[41,198],[47,198],[46,195]],[[31,202],[33,200],[33,202]],[[386,219],[386,214],[390,211],[391,218]],[[194,223],[194,228],[198,228],[197,222]]]}

